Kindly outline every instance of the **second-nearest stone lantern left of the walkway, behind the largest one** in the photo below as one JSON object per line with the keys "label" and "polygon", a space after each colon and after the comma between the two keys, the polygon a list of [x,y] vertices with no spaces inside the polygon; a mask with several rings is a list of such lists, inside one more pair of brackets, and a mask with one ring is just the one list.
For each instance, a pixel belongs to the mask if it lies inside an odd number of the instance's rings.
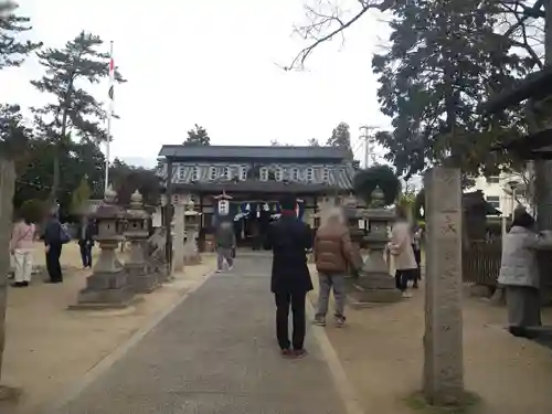
{"label": "second-nearest stone lantern left of the walkway, behind the largest one", "polygon": [[144,210],[142,195],[136,190],[130,195],[127,211],[125,237],[130,242],[130,254],[125,263],[128,283],[132,290],[140,294],[151,293],[158,285],[153,267],[147,261],[149,214]]}

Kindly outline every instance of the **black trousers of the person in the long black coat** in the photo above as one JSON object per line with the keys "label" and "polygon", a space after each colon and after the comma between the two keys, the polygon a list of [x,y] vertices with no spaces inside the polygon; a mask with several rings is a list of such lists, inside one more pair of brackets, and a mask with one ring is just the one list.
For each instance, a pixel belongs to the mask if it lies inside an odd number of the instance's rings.
{"label": "black trousers of the person in the long black coat", "polygon": [[[280,349],[302,349],[306,332],[305,299],[306,293],[276,293],[276,338]],[[293,339],[289,342],[289,307],[293,314]]]}

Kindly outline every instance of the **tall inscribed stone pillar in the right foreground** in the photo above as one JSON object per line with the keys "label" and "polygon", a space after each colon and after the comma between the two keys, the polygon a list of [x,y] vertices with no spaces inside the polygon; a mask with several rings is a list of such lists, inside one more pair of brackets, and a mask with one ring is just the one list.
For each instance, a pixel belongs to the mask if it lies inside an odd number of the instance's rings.
{"label": "tall inscribed stone pillar in the right foreground", "polygon": [[459,404],[464,396],[460,171],[434,168],[424,181],[424,394],[433,405]]}

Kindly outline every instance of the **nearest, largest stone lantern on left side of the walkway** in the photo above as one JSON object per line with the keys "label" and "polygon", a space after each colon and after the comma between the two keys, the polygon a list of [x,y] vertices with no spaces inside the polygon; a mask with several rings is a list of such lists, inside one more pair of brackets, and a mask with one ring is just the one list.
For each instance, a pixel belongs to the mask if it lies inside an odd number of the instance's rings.
{"label": "nearest, largest stone lantern on left side of the walkway", "polygon": [[119,231],[125,211],[116,205],[116,198],[117,193],[109,185],[104,203],[95,214],[98,227],[95,238],[99,243],[99,257],[93,274],[86,278],[86,287],[78,293],[77,305],[71,308],[121,308],[134,299],[127,273],[115,254],[125,238]]}

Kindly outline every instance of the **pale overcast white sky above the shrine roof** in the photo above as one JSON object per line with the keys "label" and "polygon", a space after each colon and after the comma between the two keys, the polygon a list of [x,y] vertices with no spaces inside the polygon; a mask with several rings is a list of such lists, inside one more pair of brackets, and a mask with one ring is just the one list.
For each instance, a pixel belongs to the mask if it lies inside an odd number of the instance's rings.
{"label": "pale overcast white sky above the shrine roof", "polygon": [[[311,0],[305,0],[311,1]],[[341,0],[347,3],[348,0]],[[349,0],[351,4],[355,1]],[[363,124],[386,126],[376,102],[371,59],[386,39],[376,12],[320,46],[302,72],[284,72],[305,44],[301,0],[19,0],[35,39],[62,46],[81,30],[114,41],[128,83],[115,89],[112,156],[153,161],[163,144],[180,144],[194,124],[213,145],[306,145],[325,141],[340,121],[353,146]],[[2,102],[43,102],[30,79],[34,60],[0,73]],[[92,88],[99,99],[107,83]],[[358,151],[361,156],[361,151]],[[112,158],[113,158],[112,157]]]}

